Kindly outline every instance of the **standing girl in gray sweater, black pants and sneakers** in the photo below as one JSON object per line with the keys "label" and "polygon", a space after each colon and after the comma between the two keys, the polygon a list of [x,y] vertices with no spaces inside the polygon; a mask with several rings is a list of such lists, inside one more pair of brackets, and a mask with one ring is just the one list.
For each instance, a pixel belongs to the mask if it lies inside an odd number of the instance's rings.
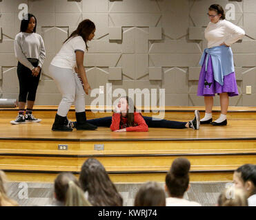
{"label": "standing girl in gray sweater, black pants and sneakers", "polygon": [[[41,67],[46,58],[42,37],[36,33],[37,19],[33,14],[26,14],[21,21],[19,34],[14,39],[14,52],[17,58],[19,78],[19,114],[12,124],[40,122],[32,115]],[[27,109],[26,107],[27,102]]]}

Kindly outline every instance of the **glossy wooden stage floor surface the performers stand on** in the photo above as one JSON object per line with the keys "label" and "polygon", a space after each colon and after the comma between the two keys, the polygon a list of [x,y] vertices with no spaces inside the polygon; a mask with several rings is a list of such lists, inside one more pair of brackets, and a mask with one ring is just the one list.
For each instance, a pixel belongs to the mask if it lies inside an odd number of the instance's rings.
{"label": "glossy wooden stage floor surface the performers stand on", "polygon": [[10,124],[11,118],[0,119],[0,138],[47,138],[47,139],[221,139],[221,138],[256,138],[256,120],[229,120],[227,126],[201,125],[193,129],[156,129],[148,132],[117,133],[109,128],[99,127],[97,131],[58,132],[52,131],[53,119],[43,119],[39,123]]}

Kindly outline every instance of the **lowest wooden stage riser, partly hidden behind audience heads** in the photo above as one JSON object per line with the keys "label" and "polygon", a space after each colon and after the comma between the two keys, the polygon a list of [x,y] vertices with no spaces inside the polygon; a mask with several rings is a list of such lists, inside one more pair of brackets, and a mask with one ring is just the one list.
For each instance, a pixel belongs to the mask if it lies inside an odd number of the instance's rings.
{"label": "lowest wooden stage riser, partly hidden behind audience heads", "polygon": [[[53,183],[57,174],[51,173],[10,173],[6,172],[10,181],[31,181]],[[79,175],[75,175],[79,178]],[[110,174],[114,183],[144,183],[146,181],[164,182],[165,173],[143,174]],[[190,182],[193,181],[233,181],[233,173],[190,173]]]}

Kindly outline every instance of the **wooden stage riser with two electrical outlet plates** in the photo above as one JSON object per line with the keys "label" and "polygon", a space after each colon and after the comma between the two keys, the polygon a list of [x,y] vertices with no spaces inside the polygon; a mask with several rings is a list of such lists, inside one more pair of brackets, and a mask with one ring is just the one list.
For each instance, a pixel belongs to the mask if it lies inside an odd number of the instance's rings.
{"label": "wooden stage riser with two electrical outlet plates", "polygon": [[[58,144],[68,144],[68,151],[59,151]],[[104,151],[95,151],[95,144],[104,144]],[[150,153],[235,153],[253,152],[255,140],[193,141],[33,141],[0,140],[0,153],[41,153],[57,155],[108,155]]]}

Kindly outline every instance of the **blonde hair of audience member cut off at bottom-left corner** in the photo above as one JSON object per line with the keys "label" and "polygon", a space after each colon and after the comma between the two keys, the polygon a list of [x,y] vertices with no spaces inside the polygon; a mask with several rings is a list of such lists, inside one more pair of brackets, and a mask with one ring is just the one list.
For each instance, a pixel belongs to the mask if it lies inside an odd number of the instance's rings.
{"label": "blonde hair of audience member cut off at bottom-left corner", "polygon": [[0,206],[18,206],[18,203],[6,195],[4,184],[6,183],[6,174],[0,170]]}

